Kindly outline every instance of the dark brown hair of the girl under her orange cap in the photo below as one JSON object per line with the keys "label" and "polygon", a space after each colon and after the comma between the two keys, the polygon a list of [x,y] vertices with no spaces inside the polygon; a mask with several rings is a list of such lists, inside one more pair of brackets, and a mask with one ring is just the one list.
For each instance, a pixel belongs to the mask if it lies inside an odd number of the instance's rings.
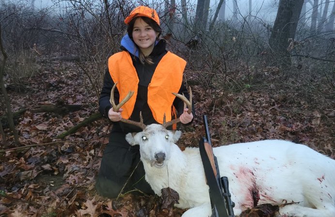
{"label": "dark brown hair of the girl under her orange cap", "polygon": [[[135,17],[134,19],[132,19],[129,24],[128,24],[128,27],[127,27],[127,32],[128,32],[128,35],[129,35],[129,38],[131,38],[133,40],[133,29],[134,29],[134,24],[135,24],[135,21],[138,19],[138,18],[141,18],[144,22],[146,22],[155,32],[158,32],[158,36],[157,38],[159,38],[159,36],[162,34],[162,29],[160,28],[160,26],[152,19],[150,19],[149,17],[146,17],[146,16],[137,16]],[[136,44],[135,44],[136,45]],[[137,45],[136,45],[137,47]],[[138,47],[137,47],[138,49]],[[142,63],[142,64],[153,64],[152,62],[152,59],[148,56],[148,57],[145,57],[144,54],[141,52],[140,49],[138,49],[138,58],[139,58],[139,61]]]}

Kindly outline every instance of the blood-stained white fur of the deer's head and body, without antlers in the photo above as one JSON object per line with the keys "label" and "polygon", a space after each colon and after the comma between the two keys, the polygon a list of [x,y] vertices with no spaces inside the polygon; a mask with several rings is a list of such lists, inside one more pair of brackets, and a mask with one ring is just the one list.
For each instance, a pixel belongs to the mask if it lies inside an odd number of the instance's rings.
{"label": "blood-stained white fur of the deer's head and body, without antlers", "polygon": [[[156,194],[172,188],[180,197],[176,206],[191,208],[182,217],[209,217],[209,188],[199,149],[181,151],[174,144],[180,136],[180,131],[152,124],[142,132],[128,133],[126,140],[140,145],[145,179]],[[157,153],[166,155],[163,166],[151,166]],[[288,203],[280,207],[278,217],[335,217],[335,160],[306,145],[282,140],[224,145],[213,148],[213,153],[220,175],[228,177],[235,216],[254,203]]]}

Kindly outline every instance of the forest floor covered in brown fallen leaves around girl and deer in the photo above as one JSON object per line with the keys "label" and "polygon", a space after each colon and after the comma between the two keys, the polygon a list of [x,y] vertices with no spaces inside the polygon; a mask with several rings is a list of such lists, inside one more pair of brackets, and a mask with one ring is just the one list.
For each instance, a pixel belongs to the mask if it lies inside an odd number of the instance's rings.
{"label": "forest floor covered in brown fallen leaves around girl and deer", "polygon": [[[192,76],[192,75],[190,75]],[[16,120],[22,145],[10,150],[0,138],[0,217],[168,217],[155,196],[122,195],[118,200],[100,197],[95,175],[108,142],[109,121],[101,118],[65,139],[55,139],[97,112],[97,96],[84,74],[72,62],[50,61],[23,84],[25,92],[8,90],[12,109],[27,111]],[[197,116],[184,127],[178,145],[197,146],[204,136],[202,115],[208,115],[213,145],[264,139],[303,143],[335,159],[332,106],[320,109],[308,100],[291,100],[294,93],[273,95],[266,90],[229,93],[213,101],[199,85],[192,87]],[[49,104],[88,105],[73,112],[39,113]],[[92,104],[93,103],[93,104]],[[0,116],[4,115],[1,111]],[[9,135],[8,128],[5,128]],[[37,145],[39,144],[39,145]],[[223,172],[222,172],[223,174]],[[183,210],[174,209],[180,217]]]}

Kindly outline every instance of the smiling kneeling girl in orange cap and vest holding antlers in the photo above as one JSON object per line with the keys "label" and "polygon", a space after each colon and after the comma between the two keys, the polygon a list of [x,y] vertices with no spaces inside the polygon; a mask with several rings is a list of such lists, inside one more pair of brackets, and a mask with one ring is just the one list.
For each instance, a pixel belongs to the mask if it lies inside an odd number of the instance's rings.
{"label": "smiling kneeling girl in orange cap and vest holding antlers", "polygon": [[[171,94],[178,92],[188,98],[183,84],[186,61],[168,52],[166,41],[159,39],[162,30],[156,11],[139,6],[124,22],[128,25],[128,34],[122,38],[122,51],[108,58],[99,101],[99,111],[113,122],[113,127],[95,187],[100,195],[109,198],[133,189],[153,194],[144,179],[138,145],[130,146],[125,140],[128,132],[141,129],[121,122],[121,118],[139,121],[141,112],[146,125],[162,124],[164,114],[166,121],[180,117],[182,124],[189,124],[193,120],[193,114],[183,108],[183,101]],[[130,90],[134,91],[132,98],[118,112],[113,111],[109,102],[111,88],[116,82],[115,103],[119,103]]]}

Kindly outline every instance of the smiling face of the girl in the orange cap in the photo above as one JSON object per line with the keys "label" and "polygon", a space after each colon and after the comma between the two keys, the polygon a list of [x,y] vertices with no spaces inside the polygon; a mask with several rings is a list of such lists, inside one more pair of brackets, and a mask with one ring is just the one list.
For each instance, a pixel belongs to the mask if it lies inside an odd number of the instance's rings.
{"label": "smiling face of the girl in the orange cap", "polygon": [[137,18],[133,27],[133,40],[144,54],[148,56],[153,50],[158,32],[152,29],[149,24],[141,18]]}

